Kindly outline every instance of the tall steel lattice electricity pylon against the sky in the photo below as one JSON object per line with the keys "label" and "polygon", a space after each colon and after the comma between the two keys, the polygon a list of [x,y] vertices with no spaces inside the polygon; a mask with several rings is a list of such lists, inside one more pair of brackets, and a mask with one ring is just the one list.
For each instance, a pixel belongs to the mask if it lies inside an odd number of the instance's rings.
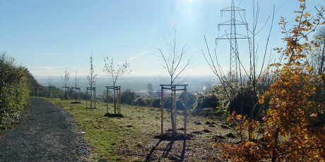
{"label": "tall steel lattice electricity pylon against the sky", "polygon": [[225,8],[223,10],[220,10],[220,15],[223,16],[223,12],[230,11],[231,12],[231,20],[228,20],[224,23],[218,24],[218,30],[220,30],[220,25],[230,25],[230,33],[226,35],[223,35],[222,37],[215,38],[215,44],[218,44],[218,39],[229,39],[230,42],[230,71],[229,75],[232,80],[237,81],[238,79],[238,48],[237,48],[237,39],[248,39],[249,37],[246,37],[244,35],[239,35],[236,32],[236,25],[247,25],[247,23],[244,23],[242,21],[236,20],[236,11],[243,11],[245,14],[245,10],[242,8],[235,7],[234,0],[231,2],[231,7]]}

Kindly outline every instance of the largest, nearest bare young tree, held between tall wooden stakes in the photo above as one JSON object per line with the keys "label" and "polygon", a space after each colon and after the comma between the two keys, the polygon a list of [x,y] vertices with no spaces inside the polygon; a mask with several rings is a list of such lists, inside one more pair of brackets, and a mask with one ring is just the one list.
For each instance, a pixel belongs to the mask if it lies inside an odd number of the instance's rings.
{"label": "largest, nearest bare young tree, held between tall wooden stakes", "polygon": [[[165,68],[167,70],[168,75],[170,75],[170,85],[173,85],[177,79],[179,79],[185,70],[188,68],[191,68],[193,65],[195,59],[194,54],[189,53],[189,47],[187,47],[187,44],[179,48],[177,41],[176,41],[176,30],[175,30],[175,37],[172,39],[172,43],[167,44],[168,51],[162,52],[160,51],[160,57],[162,57],[164,64],[162,64],[162,68]],[[172,86],[170,87],[172,89]],[[174,96],[173,93],[170,96],[171,99],[171,107],[170,107],[170,116],[172,120],[172,136],[175,137],[176,134],[176,121],[175,121],[175,115],[172,111],[174,107]]]}

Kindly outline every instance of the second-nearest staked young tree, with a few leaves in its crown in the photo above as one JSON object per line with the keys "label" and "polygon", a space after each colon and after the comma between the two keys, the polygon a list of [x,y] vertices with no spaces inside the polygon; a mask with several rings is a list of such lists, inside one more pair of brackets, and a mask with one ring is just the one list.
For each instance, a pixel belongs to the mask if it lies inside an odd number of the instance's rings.
{"label": "second-nearest staked young tree, with a few leaves in its crown", "polygon": [[[115,84],[119,77],[122,77],[124,74],[131,73],[132,70],[129,70],[130,63],[123,63],[121,66],[117,65],[114,66],[114,60],[113,58],[104,57],[105,66],[103,69],[103,72],[106,73],[108,76],[112,77],[113,87],[115,87]],[[114,113],[116,113],[116,92],[114,89]]]}

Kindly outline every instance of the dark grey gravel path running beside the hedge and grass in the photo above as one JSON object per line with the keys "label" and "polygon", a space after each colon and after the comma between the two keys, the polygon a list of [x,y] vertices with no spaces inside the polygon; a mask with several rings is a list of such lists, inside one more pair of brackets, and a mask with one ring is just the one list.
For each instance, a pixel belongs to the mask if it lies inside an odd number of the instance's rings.
{"label": "dark grey gravel path running beside the hedge and grass", "polygon": [[87,145],[73,116],[46,99],[31,101],[25,121],[0,137],[0,161],[85,161]]}

